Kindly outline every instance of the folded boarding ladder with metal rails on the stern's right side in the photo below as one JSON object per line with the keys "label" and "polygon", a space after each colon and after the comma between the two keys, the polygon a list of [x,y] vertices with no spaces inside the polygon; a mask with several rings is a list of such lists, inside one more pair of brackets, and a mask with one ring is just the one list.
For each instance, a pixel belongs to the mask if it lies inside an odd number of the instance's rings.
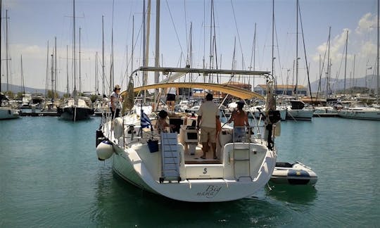
{"label": "folded boarding ladder with metal rails on the stern's right side", "polygon": [[[246,130],[248,129],[248,134]],[[239,132],[241,132],[239,134]],[[232,160],[234,165],[234,177],[239,181],[241,177],[251,180],[251,128],[234,127],[232,133],[233,149]]]}

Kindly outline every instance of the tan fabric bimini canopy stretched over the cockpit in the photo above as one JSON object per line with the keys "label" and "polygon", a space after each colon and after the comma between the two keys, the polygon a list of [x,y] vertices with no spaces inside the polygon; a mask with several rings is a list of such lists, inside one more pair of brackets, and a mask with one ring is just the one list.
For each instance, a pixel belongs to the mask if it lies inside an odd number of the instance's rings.
{"label": "tan fabric bimini canopy stretched over the cockpit", "polygon": [[[241,89],[239,87],[233,87],[230,85],[224,84],[214,84],[214,83],[202,83],[202,82],[172,82],[172,83],[159,83],[159,84],[150,84],[142,87],[134,88],[134,92],[148,89],[165,89],[165,88],[197,88],[197,89],[209,89],[213,91],[221,91],[224,94],[230,94],[232,96],[239,97],[239,99],[264,99],[258,93],[249,91],[247,89]],[[125,91],[122,92],[122,94]]]}

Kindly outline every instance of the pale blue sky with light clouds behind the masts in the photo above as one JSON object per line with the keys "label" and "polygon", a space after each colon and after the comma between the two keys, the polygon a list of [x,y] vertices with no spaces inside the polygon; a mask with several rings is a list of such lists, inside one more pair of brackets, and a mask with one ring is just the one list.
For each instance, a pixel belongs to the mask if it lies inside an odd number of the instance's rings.
{"label": "pale blue sky with light clouds behind the masts", "polygon": [[[82,91],[94,91],[98,75],[99,90],[102,92],[103,56],[106,91],[108,92],[109,87],[111,56],[114,83],[121,84],[123,89],[127,87],[132,68],[136,69],[142,65],[143,2],[75,1],[77,89],[80,75]],[[156,2],[151,1],[149,66],[154,66],[156,56]],[[72,0],[2,0],[1,4],[1,82],[7,82],[8,27],[8,59],[11,59],[8,61],[9,83],[21,85],[23,72],[25,87],[50,88],[51,54],[56,46],[57,89],[65,91],[69,78],[69,87],[72,90]],[[346,78],[376,74],[376,0],[299,0],[298,32],[296,0],[274,0],[274,11],[270,0],[215,0],[214,23],[210,22],[210,5],[211,1],[205,0],[160,1],[161,66],[184,67],[186,60],[189,60],[188,56],[191,56],[190,63],[193,68],[209,68],[210,65],[215,68],[217,60],[218,68],[221,69],[272,71],[273,48],[274,75],[277,83],[292,84],[295,83],[294,62],[298,46],[298,84],[308,84],[306,61],[311,82],[319,79],[320,72],[322,77],[325,77],[327,56],[331,59],[330,74],[333,81],[343,79],[345,69]],[[6,12],[8,20],[5,19]],[[275,25],[273,45],[272,12]],[[210,30],[215,31],[214,51],[210,51]],[[213,52],[213,63],[210,63],[210,52]],[[322,66],[323,70],[320,70]],[[227,81],[228,78],[222,80]],[[149,76],[148,82],[153,83],[153,76]],[[251,83],[262,82],[256,80]],[[135,84],[141,84],[141,80],[138,79]],[[376,84],[376,80],[369,84]]]}

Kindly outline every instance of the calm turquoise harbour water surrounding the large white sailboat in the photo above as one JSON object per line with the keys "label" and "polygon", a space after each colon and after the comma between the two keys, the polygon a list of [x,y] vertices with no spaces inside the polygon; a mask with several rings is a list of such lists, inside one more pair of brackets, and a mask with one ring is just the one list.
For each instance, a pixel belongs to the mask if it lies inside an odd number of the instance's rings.
{"label": "calm turquoise harbour water surrounding the large white sailboat", "polygon": [[96,158],[100,118],[0,121],[0,227],[378,227],[380,122],[281,122],[279,161],[300,160],[315,188],[272,186],[225,203],[149,194]]}

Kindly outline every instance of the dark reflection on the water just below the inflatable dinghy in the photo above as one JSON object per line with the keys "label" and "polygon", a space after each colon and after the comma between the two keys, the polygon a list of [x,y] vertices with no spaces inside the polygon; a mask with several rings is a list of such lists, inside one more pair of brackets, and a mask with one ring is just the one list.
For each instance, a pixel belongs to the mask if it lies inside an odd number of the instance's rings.
{"label": "dark reflection on the water just below the inflatable dinghy", "polygon": [[267,196],[287,203],[308,204],[317,198],[317,189],[310,185],[272,184],[266,187]]}

